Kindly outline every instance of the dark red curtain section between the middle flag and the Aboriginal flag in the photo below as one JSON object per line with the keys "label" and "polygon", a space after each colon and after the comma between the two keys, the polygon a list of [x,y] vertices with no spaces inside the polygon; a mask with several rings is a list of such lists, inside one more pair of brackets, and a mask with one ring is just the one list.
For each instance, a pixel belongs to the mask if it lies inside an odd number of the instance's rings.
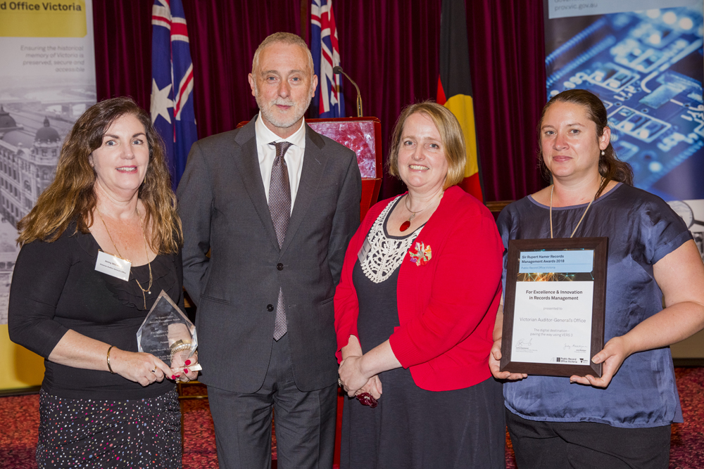
{"label": "dark red curtain section between the middle flag and the Aboriginal flag", "polygon": [[[382,121],[384,162],[401,109],[437,94],[440,0],[336,0],[340,61],[358,84],[366,115]],[[344,82],[347,113],[357,93]],[[405,191],[384,173],[379,198]]]}

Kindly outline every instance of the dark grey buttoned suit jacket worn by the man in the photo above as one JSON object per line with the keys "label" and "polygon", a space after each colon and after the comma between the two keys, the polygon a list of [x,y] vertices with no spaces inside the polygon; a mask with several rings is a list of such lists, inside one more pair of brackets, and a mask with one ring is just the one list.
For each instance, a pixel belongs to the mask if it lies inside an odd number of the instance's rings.
{"label": "dark grey buttoned suit jacket worn by the man", "polygon": [[352,150],[306,126],[301,181],[279,250],[255,120],[194,143],[177,191],[184,285],[198,307],[199,380],[232,392],[259,389],[280,287],[296,386],[318,390],[337,380],[333,296],[359,225],[359,167]]}

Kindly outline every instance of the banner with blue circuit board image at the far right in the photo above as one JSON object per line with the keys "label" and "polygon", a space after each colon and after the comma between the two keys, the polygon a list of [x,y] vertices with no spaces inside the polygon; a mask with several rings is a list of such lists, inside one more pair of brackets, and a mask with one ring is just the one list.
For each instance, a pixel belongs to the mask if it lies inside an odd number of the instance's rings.
{"label": "banner with blue circuit board image at the far right", "polygon": [[601,98],[635,186],[670,203],[704,257],[704,1],[545,0],[545,8],[548,99],[574,88]]}

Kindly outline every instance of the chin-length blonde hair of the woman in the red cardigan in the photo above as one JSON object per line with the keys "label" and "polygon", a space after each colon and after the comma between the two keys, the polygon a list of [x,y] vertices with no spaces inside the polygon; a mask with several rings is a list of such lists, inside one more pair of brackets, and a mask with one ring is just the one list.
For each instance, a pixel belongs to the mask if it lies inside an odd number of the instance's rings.
{"label": "chin-length blonde hair of the woman in the red cardigan", "polygon": [[458,122],[457,117],[451,110],[433,101],[410,104],[401,111],[401,115],[396,120],[394,132],[391,134],[389,160],[386,163],[389,168],[389,174],[401,179],[398,173],[398,149],[401,147],[403,126],[406,124],[408,117],[419,113],[429,117],[440,134],[440,141],[447,160],[447,176],[445,176],[443,189],[460,184],[465,178],[465,166],[467,165],[465,135],[462,132],[462,127],[460,127],[460,122]]}

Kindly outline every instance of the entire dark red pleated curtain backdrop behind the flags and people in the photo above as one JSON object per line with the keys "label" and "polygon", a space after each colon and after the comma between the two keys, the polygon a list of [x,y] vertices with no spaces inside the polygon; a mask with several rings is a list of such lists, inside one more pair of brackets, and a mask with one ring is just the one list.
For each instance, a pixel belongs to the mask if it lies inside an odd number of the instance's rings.
{"label": "entire dark red pleated curtain backdrop behind the flags and people", "polygon": [[[307,1],[307,0],[303,0]],[[299,0],[183,0],[194,62],[199,137],[256,113],[247,74],[256,46],[277,31],[301,33]],[[382,120],[384,158],[404,105],[436,96],[441,0],[337,0],[341,61],[365,115]],[[149,109],[153,0],[93,3],[98,99],[130,95]],[[545,103],[542,0],[467,1],[477,139],[486,200],[541,188],[535,126]],[[306,32],[306,36],[308,33]],[[356,91],[346,83],[352,113]],[[381,197],[403,191],[384,178]]]}

